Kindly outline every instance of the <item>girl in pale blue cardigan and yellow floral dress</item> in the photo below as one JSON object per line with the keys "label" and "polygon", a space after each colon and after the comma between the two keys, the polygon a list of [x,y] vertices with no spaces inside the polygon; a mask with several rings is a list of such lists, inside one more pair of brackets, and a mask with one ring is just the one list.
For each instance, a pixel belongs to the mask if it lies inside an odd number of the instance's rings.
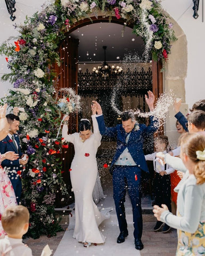
{"label": "girl in pale blue cardigan and yellow floral dress", "polygon": [[[184,134],[181,139],[180,157],[187,169],[187,175],[185,174],[175,188],[178,192],[177,216],[169,212],[165,204],[162,207],[154,205],[153,213],[157,220],[178,230],[177,256],[203,255],[205,253],[203,231],[205,228],[205,136],[200,133]],[[176,157],[169,155],[169,158],[174,159],[175,162]],[[180,165],[180,161],[178,163]],[[178,168],[181,169],[180,166]]]}

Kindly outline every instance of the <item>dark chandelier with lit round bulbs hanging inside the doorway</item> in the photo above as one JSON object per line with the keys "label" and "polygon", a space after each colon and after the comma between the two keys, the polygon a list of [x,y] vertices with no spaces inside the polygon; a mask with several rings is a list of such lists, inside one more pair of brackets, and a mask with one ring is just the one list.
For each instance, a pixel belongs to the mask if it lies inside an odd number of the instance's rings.
{"label": "dark chandelier with lit round bulbs hanging inside the doorway", "polygon": [[104,62],[101,66],[98,66],[97,68],[93,68],[93,72],[95,74],[99,74],[102,77],[104,77],[104,79],[106,79],[107,77],[110,76],[110,74],[119,74],[122,71],[122,68],[117,66],[115,67],[114,65],[112,67],[110,67],[110,65],[106,62],[106,47],[107,46],[103,46],[104,49]]}

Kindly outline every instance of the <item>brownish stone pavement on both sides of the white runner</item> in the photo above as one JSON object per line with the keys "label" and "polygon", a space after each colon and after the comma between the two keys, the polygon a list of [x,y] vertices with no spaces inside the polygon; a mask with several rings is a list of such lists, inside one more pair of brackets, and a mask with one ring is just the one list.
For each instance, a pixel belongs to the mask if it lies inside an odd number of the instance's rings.
{"label": "brownish stone pavement on both sides of the white runner", "polygon": [[[143,222],[142,241],[144,243],[144,249],[140,251],[141,256],[175,256],[177,246],[176,230],[171,229],[167,234],[163,234],[161,231],[154,232],[153,228],[155,225],[155,218],[152,214],[143,214]],[[65,230],[67,226],[62,225],[62,228]],[[27,238],[24,242],[31,248],[33,256],[40,256],[46,244],[50,246],[53,251],[53,255],[61,241],[61,238],[63,237],[63,234],[64,231],[61,231],[57,233],[55,237],[48,238],[47,236],[40,236],[38,239]]]}

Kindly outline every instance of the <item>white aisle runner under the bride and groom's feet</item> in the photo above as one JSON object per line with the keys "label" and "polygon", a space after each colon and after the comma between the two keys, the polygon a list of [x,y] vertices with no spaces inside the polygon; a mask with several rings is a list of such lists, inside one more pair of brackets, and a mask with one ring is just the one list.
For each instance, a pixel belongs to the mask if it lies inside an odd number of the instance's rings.
{"label": "white aisle runner under the bride and groom's feet", "polygon": [[72,238],[73,228],[75,226],[75,211],[72,211],[73,216],[70,217],[70,223],[68,230],[56,249],[53,256],[127,256],[135,255],[140,256],[140,251],[135,249],[134,237],[133,237],[133,216],[132,214],[127,214],[126,219],[128,223],[129,236],[125,239],[124,243],[117,244],[117,236],[119,235],[118,221],[116,213],[113,210],[111,212],[111,217],[105,220],[100,225],[100,230],[103,235],[106,236],[106,242],[100,245],[91,245],[89,247],[84,247],[82,243],[78,243],[76,239]]}

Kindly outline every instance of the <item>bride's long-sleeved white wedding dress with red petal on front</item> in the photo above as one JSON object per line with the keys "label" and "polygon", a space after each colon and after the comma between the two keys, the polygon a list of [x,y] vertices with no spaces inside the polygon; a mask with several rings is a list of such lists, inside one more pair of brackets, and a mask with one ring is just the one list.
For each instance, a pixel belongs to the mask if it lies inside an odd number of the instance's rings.
{"label": "bride's long-sleeved white wedding dress with red petal on front", "polygon": [[75,229],[73,237],[78,242],[101,244],[105,237],[100,232],[100,223],[110,217],[109,211],[100,212],[93,202],[93,188],[97,177],[97,148],[101,144],[101,134],[96,120],[92,115],[94,133],[84,142],[79,133],[68,135],[68,126],[63,125],[62,137],[73,143],[75,156],[71,164],[70,178],[75,194]]}

